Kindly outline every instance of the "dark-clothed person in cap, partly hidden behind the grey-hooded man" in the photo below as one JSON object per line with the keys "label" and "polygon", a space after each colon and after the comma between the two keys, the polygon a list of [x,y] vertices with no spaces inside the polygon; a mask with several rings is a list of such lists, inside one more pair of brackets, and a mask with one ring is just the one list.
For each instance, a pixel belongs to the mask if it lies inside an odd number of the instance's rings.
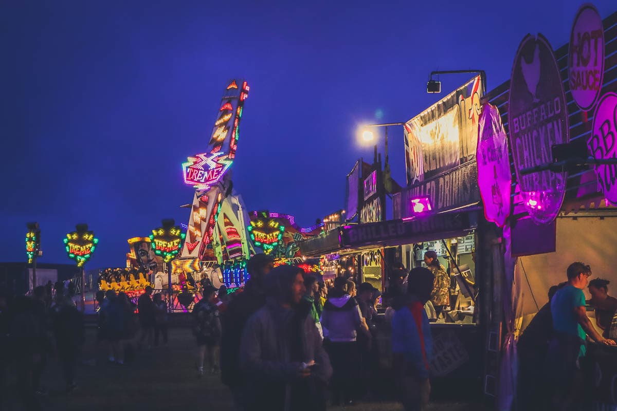
{"label": "dark-clothed person in cap, partly hidden behind the grey-hooded man", "polygon": [[223,311],[221,324],[220,368],[223,384],[231,389],[236,409],[244,404],[244,380],[239,368],[238,357],[242,330],[249,317],[266,302],[265,279],[274,266],[266,254],[255,254],[246,264],[249,280],[244,291],[239,293]]}

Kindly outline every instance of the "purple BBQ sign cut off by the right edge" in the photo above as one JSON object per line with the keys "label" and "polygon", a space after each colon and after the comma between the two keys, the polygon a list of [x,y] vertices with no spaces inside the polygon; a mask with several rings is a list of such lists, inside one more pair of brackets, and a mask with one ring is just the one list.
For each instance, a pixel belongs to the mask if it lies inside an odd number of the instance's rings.
{"label": "purple BBQ sign cut off by the right edge", "polygon": [[[617,158],[617,94],[607,93],[598,102],[587,147],[597,160]],[[607,201],[617,205],[617,165],[595,166],[595,175]]]}

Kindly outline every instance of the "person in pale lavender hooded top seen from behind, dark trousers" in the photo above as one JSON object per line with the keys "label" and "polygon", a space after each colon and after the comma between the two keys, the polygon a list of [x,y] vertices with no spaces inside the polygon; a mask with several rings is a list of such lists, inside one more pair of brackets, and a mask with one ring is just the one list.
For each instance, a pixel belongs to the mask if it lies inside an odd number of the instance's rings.
{"label": "person in pale lavender hooded top seen from behind, dark trousers", "polygon": [[321,312],[321,328],[334,374],[332,377],[333,404],[354,403],[360,365],[357,330],[370,336],[357,301],[347,293],[347,280],[337,277],[334,288]]}

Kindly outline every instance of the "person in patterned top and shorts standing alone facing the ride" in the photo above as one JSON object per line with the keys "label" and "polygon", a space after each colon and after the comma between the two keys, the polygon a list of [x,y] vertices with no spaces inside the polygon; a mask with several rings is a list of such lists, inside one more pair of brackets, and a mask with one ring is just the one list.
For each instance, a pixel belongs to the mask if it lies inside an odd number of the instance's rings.
{"label": "person in patterned top and shorts standing alone facing the ride", "polygon": [[221,319],[215,303],[217,289],[207,287],[203,298],[193,308],[193,334],[197,339],[197,376],[204,375],[204,359],[208,354],[210,372],[218,372],[218,350],[221,344]]}

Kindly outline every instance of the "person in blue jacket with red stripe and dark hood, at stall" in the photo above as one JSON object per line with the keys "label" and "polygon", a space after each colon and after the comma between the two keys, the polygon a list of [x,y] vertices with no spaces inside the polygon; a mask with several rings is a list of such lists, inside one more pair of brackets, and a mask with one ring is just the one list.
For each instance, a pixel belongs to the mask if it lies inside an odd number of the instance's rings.
{"label": "person in blue jacket with red stripe and dark hood, at stall", "polygon": [[431,299],[434,274],[416,267],[409,274],[407,296],[392,317],[392,354],[405,411],[423,411],[431,394],[429,371],[433,339],[424,304]]}

